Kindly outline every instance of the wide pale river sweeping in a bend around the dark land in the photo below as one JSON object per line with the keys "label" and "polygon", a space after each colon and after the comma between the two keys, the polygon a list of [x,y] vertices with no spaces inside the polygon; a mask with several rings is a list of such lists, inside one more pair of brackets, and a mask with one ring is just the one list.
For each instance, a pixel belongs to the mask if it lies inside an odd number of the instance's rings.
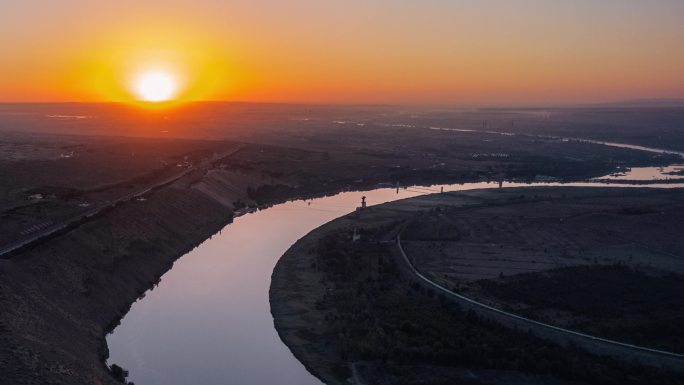
{"label": "wide pale river sweeping in a bend around the dark land", "polygon": [[[504,187],[535,185],[558,184],[504,183]],[[235,218],[180,258],[158,287],[133,304],[107,338],[109,363],[128,369],[129,380],[137,385],[321,384],[290,353],[274,329],[268,290],[276,262],[309,231],[353,211],[362,196],[369,205],[375,205],[438,192],[441,187],[458,191],[497,185],[467,183],[343,192],[283,203]]]}

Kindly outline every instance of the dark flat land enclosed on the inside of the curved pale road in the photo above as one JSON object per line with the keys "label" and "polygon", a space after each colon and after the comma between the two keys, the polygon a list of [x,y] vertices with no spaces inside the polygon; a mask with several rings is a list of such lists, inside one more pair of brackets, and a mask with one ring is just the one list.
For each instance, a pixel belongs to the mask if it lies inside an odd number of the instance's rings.
{"label": "dark flat land enclosed on the inside of the curved pale road", "polygon": [[681,194],[513,199],[403,232],[433,281],[564,328],[684,351]]}

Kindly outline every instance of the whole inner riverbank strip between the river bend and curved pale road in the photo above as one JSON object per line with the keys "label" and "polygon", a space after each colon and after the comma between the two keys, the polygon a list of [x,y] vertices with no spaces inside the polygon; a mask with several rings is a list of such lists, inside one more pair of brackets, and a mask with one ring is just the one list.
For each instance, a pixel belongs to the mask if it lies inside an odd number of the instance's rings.
{"label": "whole inner riverbank strip between the river bend and curved pale road", "polygon": [[[609,200],[625,195],[619,189],[600,191]],[[644,377],[639,374],[643,369],[631,364],[502,329],[446,306],[433,291],[397,278],[391,248],[396,233],[388,230],[418,213],[483,202],[497,210],[499,203],[510,204],[523,196],[530,202],[598,192],[482,190],[454,194],[451,202],[434,195],[372,207],[358,218],[339,218],[313,230],[278,262],[270,291],[276,329],[300,361],[329,384],[343,384],[352,377],[357,383],[411,383],[410,378],[427,381],[423,383],[604,383],[620,378],[630,383],[654,378],[678,383],[677,376],[658,369],[648,369]],[[638,200],[649,192],[635,189],[627,194]],[[361,242],[351,242],[355,228],[362,234]],[[471,377],[463,377],[463,371]]]}

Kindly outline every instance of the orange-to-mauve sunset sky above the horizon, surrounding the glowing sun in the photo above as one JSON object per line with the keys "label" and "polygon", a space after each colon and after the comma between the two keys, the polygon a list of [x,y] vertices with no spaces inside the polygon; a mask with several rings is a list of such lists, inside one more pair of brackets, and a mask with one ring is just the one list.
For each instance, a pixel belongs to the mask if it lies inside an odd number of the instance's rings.
{"label": "orange-to-mauve sunset sky above the horizon, surrounding the glowing sun", "polygon": [[539,104],[684,97],[682,0],[3,0],[0,101]]}

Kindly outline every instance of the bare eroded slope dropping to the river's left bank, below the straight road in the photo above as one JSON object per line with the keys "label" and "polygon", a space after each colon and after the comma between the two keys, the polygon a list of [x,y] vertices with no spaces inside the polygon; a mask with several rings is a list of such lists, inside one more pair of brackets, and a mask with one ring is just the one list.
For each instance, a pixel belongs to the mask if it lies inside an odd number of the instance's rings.
{"label": "bare eroded slope dropping to the river's left bank, below the straight road", "polygon": [[189,175],[0,260],[0,383],[116,384],[106,333],[177,258],[232,220],[249,182]]}

